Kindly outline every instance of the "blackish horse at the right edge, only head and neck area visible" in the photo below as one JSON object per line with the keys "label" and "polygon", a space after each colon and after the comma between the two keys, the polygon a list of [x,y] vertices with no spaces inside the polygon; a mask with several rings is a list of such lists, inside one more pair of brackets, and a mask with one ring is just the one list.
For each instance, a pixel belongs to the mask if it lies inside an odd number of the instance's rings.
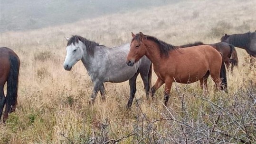
{"label": "blackish horse at the right edge, only head and neck area visible", "polygon": [[228,42],[235,47],[245,49],[250,56],[256,57],[256,32],[245,34],[225,34],[221,42]]}

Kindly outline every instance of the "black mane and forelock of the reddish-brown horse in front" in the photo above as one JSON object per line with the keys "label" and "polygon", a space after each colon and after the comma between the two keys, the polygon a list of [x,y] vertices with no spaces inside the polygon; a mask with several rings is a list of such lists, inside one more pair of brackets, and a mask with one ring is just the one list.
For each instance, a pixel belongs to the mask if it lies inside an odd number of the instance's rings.
{"label": "black mane and forelock of the reddish-brown horse in front", "polygon": [[[161,41],[161,40],[159,40],[159,39],[157,39],[157,38],[155,38],[153,36],[144,35],[144,38],[146,38],[146,39],[148,39],[150,41],[156,42],[159,45],[160,55],[168,56],[169,55],[169,51],[177,49],[175,46],[173,46],[173,45],[171,45],[169,43],[163,42],[163,41]],[[134,39],[139,41],[140,40],[140,34],[136,34],[136,36],[133,37],[133,40]]]}

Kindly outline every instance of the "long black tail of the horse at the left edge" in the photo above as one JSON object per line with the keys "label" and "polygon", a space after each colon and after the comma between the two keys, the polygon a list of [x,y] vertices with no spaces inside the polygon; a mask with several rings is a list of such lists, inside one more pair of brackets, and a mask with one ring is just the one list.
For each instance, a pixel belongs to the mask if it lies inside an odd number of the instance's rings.
{"label": "long black tail of the horse at the left edge", "polygon": [[[6,111],[5,113],[10,113],[15,110],[17,104],[17,92],[19,83],[19,57],[15,55],[10,55],[10,71],[9,77],[7,79],[7,94],[6,94]],[[6,120],[4,116],[4,121]]]}

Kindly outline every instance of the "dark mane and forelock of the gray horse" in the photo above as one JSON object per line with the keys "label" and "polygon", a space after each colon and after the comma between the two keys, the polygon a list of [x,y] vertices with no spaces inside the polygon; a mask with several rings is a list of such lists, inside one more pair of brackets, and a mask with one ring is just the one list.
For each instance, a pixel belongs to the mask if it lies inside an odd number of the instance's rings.
{"label": "dark mane and forelock of the gray horse", "polygon": [[88,54],[90,55],[94,55],[94,48],[95,46],[101,46],[99,45],[99,43],[97,42],[93,42],[93,41],[89,41],[87,39],[85,39],[82,36],[79,35],[73,35],[67,42],[66,46],[70,45],[71,43],[75,44],[76,42],[81,41],[85,44],[86,46],[86,51],[88,52]]}

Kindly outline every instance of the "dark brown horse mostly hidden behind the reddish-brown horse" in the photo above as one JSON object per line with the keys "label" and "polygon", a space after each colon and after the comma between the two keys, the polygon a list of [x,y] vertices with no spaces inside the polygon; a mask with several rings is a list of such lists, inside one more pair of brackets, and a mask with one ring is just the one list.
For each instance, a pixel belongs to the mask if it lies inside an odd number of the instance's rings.
{"label": "dark brown horse mostly hidden behind the reddish-brown horse", "polygon": [[195,42],[195,43],[180,45],[178,47],[186,48],[186,47],[197,46],[197,45],[210,45],[213,48],[215,48],[217,51],[219,51],[222,54],[222,57],[224,59],[224,62],[226,64],[227,68],[230,67],[231,72],[233,71],[234,66],[238,65],[237,51],[232,44],[229,44],[227,42],[217,42],[217,43],[213,43],[213,44],[205,44],[203,42]]}

